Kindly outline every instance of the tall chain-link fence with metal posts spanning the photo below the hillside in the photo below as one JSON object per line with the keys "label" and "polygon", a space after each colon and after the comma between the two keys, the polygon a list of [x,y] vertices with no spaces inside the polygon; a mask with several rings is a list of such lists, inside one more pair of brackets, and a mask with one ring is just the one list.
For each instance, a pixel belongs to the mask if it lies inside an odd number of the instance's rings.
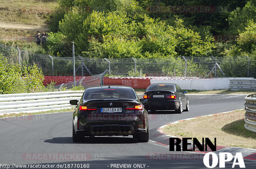
{"label": "tall chain-link fence with metal posts spanning the photo below the hillside", "polygon": [[[1,44],[10,63],[36,63],[45,76],[73,76],[72,57],[41,55]],[[256,77],[255,56],[176,58],[75,57],[76,76],[92,76],[108,69],[111,76]]]}

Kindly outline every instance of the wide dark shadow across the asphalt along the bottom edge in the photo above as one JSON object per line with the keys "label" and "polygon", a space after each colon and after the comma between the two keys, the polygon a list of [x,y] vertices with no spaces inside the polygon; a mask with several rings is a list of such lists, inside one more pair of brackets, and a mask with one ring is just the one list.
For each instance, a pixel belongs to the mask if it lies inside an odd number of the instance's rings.
{"label": "wide dark shadow across the asphalt along the bottom edge", "polygon": [[[90,156],[90,155],[89,155]],[[168,152],[168,153],[147,153],[145,155],[134,155],[134,156],[120,156],[120,157],[104,157],[98,158],[97,154],[91,154],[91,158],[84,160],[81,159],[81,156],[74,156],[75,159],[63,159],[61,162],[53,162],[52,160],[48,160],[47,163],[45,161],[33,163],[26,161],[30,165],[55,165],[59,166],[58,168],[74,168],[76,164],[76,168],[87,168],[85,167],[87,164],[90,166],[88,168],[117,168],[111,167],[111,164],[131,164],[130,168],[161,168],[161,169],[169,169],[169,168],[206,168],[203,162],[203,156],[200,154],[188,154],[188,153],[177,153],[177,152]],[[69,157],[69,156],[68,156]],[[233,161],[233,160],[232,160]],[[225,167],[231,168],[232,161],[226,162]],[[71,164],[73,167],[71,167]],[[64,166],[61,167],[60,165]],[[85,165],[85,166],[84,166]],[[142,167],[138,167],[141,165]],[[145,167],[144,167],[145,165]],[[255,168],[255,161],[245,161],[246,168]],[[11,165],[12,167],[12,165]],[[219,164],[217,165],[219,167]],[[23,168],[23,167],[20,167]],[[25,168],[25,167],[24,167]],[[120,167],[121,168],[121,167]],[[123,167],[122,167],[123,168]],[[128,168],[128,167],[126,167]],[[235,166],[237,168],[237,165]]]}

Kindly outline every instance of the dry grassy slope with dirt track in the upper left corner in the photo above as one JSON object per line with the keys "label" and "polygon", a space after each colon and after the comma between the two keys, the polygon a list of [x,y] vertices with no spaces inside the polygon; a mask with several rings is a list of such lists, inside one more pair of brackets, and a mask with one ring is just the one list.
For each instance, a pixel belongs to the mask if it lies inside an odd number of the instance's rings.
{"label": "dry grassy slope with dirt track in the upper left corner", "polygon": [[1,37],[35,37],[39,31],[48,31],[47,21],[57,5],[57,0],[1,0]]}

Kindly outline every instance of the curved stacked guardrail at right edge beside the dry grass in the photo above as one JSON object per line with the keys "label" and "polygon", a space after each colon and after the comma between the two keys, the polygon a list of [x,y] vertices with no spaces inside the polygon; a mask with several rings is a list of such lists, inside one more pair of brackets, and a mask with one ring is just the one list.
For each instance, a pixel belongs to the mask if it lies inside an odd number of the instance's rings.
{"label": "curved stacked guardrail at right edge beside the dry grass", "polygon": [[256,93],[250,94],[244,98],[246,103],[244,104],[244,127],[252,132],[256,133]]}

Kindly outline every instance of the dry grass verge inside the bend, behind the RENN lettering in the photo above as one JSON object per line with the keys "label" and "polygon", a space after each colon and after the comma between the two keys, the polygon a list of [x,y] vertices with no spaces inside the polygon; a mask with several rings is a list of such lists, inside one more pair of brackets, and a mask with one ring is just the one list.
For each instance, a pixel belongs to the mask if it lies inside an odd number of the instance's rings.
{"label": "dry grass verge inside the bend, behind the RENN lettering", "polygon": [[244,128],[244,110],[214,114],[170,124],[162,130],[175,137],[191,137],[214,140],[219,146],[256,149],[256,134]]}

